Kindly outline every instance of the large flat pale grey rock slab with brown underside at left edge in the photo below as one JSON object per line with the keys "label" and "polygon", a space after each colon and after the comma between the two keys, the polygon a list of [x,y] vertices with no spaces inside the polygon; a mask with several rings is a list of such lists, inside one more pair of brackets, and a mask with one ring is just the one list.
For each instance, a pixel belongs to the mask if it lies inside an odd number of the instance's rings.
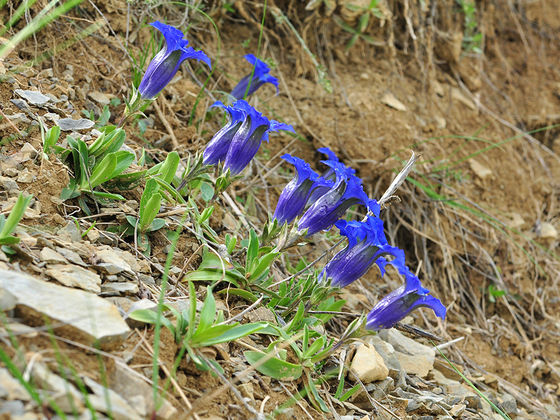
{"label": "large flat pale grey rock slab with brown underside at left edge", "polygon": [[0,296],[4,291],[15,298],[16,316],[34,324],[48,316],[51,324],[64,324],[57,334],[74,341],[112,349],[130,332],[114,305],[85,291],[0,269]]}

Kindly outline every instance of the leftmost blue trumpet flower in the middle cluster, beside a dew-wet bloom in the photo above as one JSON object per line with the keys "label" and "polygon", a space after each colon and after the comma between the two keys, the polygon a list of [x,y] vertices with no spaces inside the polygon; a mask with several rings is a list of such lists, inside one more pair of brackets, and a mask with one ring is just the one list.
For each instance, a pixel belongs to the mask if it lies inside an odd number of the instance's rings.
{"label": "leftmost blue trumpet flower in the middle cluster, beside a dew-wet bloom", "polygon": [[317,188],[331,189],[333,181],[327,181],[311,169],[303,159],[285,154],[282,159],[296,167],[296,176],[282,190],[274,211],[274,218],[280,225],[294,221],[304,212],[305,205],[311,193]]}

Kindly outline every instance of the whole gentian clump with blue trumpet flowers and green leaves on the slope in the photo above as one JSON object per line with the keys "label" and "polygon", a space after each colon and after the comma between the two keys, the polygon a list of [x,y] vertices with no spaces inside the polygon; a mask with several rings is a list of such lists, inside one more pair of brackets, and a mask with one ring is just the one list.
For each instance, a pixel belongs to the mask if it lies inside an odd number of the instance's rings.
{"label": "whole gentian clump with blue trumpet flowers and green leaves on the slope", "polygon": [[[359,36],[364,36],[368,16],[375,13],[375,6],[376,2],[371,1],[369,8],[364,9]],[[126,224],[116,231],[125,236],[134,235],[136,246],[148,257],[149,233],[162,229],[166,224],[164,219],[158,218],[162,204],[183,206],[186,209],[185,218],[189,218],[189,230],[199,239],[202,249],[201,263],[196,270],[179,279],[188,284],[190,306],[179,312],[171,304],[164,303],[164,276],[158,311],[134,311],[131,317],[157,324],[156,331],[159,331],[160,325],[165,326],[176,342],[182,344],[181,352],[204,370],[221,370],[221,367],[214,361],[208,362],[206,356],[199,352],[201,347],[234,341],[249,334],[274,337],[266,348],[245,351],[246,360],[257,371],[274,379],[301,378],[303,388],[299,390],[299,395],[306,396],[316,409],[328,412],[318,387],[331,378],[324,367],[327,359],[341,346],[366,334],[395,326],[418,307],[431,309],[441,319],[444,319],[446,309],[406,266],[404,251],[389,245],[383,221],[379,219],[381,204],[367,196],[356,171],[345,166],[327,148],[319,149],[327,157],[321,161],[324,165],[321,174],[297,156],[282,156],[294,166],[294,179],[281,191],[274,214],[269,214],[262,229],[259,226],[248,229],[247,237],[241,241],[226,234],[221,243],[209,223],[214,201],[234,180],[244,176],[262,142],[269,141],[269,133],[279,130],[294,133],[289,124],[270,120],[244,100],[263,84],[271,83],[278,88],[278,81],[271,76],[269,67],[252,54],[246,56],[254,66],[251,73],[224,97],[224,102],[216,101],[212,105],[224,109],[226,124],[214,134],[204,151],[196,151],[194,156],[186,159],[180,178],[176,176],[181,164],[177,151],[171,151],[164,161],[150,169],[134,172],[132,176],[123,175],[134,155],[120,151],[125,137],[122,124],[132,115],[141,114],[141,108],[156,99],[185,59],[196,59],[206,66],[211,65],[206,54],[187,46],[188,41],[183,39],[179,29],[160,22],[152,26],[163,34],[164,47],[150,62],[138,89],[133,89],[131,100],[126,101],[119,126],[105,127],[103,134],[89,146],[69,136],[69,151],[57,149],[58,146],[53,144],[52,139],[58,137],[59,132],[53,131],[45,136],[46,152],[52,149],[61,157],[74,161],[75,177],[63,195],[71,198],[94,194],[99,199],[121,199],[117,194],[98,191],[96,187],[109,184],[121,176],[127,181],[145,177],[138,215],[127,215]],[[236,101],[231,103],[233,99]],[[143,157],[140,163],[144,164]],[[405,166],[408,169],[403,179],[410,167]],[[398,186],[394,191],[396,188]],[[199,200],[199,193],[202,200]],[[351,220],[348,214],[349,209],[357,206],[367,213],[361,221]],[[319,260],[306,264],[301,259],[292,266],[286,250],[312,241],[314,236],[330,231],[333,226],[339,234],[329,232],[325,237],[330,240],[339,236],[341,240],[332,249],[344,241],[343,249],[334,254],[322,269],[314,269]],[[168,237],[172,236],[171,233],[168,232]],[[239,234],[239,231],[236,233]],[[171,257],[170,253],[169,264]],[[276,264],[276,261],[282,264]],[[384,296],[369,314],[361,314],[351,321],[341,336],[329,336],[325,324],[340,314],[345,303],[337,298],[342,293],[341,289],[364,276],[374,265],[379,267],[381,276],[387,266],[391,266],[404,279],[402,286]],[[198,291],[199,294],[206,293],[200,312],[196,311],[195,284],[206,286],[206,290]],[[216,313],[214,296],[239,296],[254,306],[265,306],[274,320],[239,324],[236,319],[225,319],[222,311]],[[294,355],[289,360],[288,351]],[[182,357],[184,353],[181,352],[179,356]],[[343,394],[344,381],[341,381],[336,396],[341,400],[347,399],[356,389],[354,387]]]}

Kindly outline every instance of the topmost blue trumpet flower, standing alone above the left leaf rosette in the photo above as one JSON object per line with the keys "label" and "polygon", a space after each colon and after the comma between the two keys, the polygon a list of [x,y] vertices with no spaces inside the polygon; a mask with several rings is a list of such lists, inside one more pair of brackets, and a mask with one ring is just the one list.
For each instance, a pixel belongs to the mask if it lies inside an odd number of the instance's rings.
{"label": "topmost blue trumpet flower, standing alone above the left leaf rosette", "polygon": [[189,41],[183,39],[184,34],[179,29],[159,21],[150,25],[164,35],[165,46],[151,60],[138,86],[141,99],[154,99],[173,79],[179,66],[186,59],[202,60],[211,67],[210,59],[204,52],[194,51],[193,47],[187,46]]}

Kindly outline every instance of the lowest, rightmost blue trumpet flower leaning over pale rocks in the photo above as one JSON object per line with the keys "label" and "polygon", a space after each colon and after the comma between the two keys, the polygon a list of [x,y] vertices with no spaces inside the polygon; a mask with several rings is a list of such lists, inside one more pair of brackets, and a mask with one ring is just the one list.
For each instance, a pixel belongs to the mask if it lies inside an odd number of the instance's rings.
{"label": "lowest, rightmost blue trumpet flower leaning over pale rocks", "polygon": [[374,306],[374,309],[371,309],[367,315],[366,329],[379,331],[391,328],[421,306],[430,308],[436,316],[445,319],[445,306],[439,299],[429,295],[430,291],[422,287],[420,280],[411,273],[409,267],[404,263],[401,264],[401,261],[394,265],[399,269],[399,273],[405,276],[406,282],[399,289],[391,291]]}

